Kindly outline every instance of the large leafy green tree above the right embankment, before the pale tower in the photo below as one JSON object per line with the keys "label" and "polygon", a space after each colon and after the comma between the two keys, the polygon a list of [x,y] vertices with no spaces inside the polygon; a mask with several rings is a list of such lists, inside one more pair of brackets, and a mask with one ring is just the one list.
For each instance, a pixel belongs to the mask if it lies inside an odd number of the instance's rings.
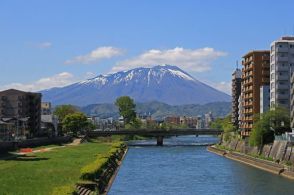
{"label": "large leafy green tree above the right embankment, before the pale tower", "polygon": [[289,112],[285,108],[276,107],[255,116],[249,143],[252,146],[271,143],[275,135],[281,135],[286,131],[291,131]]}

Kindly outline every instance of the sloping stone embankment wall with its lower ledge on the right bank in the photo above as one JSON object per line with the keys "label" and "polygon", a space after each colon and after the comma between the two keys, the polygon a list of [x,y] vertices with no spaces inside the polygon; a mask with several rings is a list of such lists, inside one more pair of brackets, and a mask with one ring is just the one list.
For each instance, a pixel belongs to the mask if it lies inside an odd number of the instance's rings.
{"label": "sloping stone embankment wall with its lower ledge on the right bank", "polygon": [[[294,179],[294,146],[287,141],[275,141],[271,145],[258,148],[249,146],[243,140],[232,140],[223,142],[222,146],[225,149],[208,147],[208,150],[226,158]],[[272,161],[258,158],[258,156]]]}

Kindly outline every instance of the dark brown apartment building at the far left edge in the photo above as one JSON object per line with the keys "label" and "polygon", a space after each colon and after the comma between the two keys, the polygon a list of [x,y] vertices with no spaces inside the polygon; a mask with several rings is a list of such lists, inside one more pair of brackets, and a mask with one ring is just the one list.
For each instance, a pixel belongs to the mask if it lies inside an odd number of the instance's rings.
{"label": "dark brown apartment building at the far left edge", "polygon": [[0,118],[27,118],[27,128],[31,133],[40,130],[41,123],[40,93],[30,93],[9,89],[0,92]]}

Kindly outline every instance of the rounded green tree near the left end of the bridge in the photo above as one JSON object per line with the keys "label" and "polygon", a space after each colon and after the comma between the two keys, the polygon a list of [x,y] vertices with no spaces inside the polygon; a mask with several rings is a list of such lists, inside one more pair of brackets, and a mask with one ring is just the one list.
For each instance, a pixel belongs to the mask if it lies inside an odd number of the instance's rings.
{"label": "rounded green tree near the left end of the bridge", "polygon": [[77,135],[78,132],[85,130],[89,126],[87,117],[80,112],[68,114],[62,121],[62,129],[65,132],[73,132]]}

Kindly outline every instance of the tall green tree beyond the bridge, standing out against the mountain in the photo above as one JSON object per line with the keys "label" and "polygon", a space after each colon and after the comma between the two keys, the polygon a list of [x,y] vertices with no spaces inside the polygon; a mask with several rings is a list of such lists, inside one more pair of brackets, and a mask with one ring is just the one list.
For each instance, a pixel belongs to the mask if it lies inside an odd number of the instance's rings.
{"label": "tall green tree beyond the bridge, standing out against the mountain", "polygon": [[136,120],[136,104],[129,96],[121,96],[116,99],[115,105],[118,107],[119,114],[124,117],[125,124],[134,123]]}

